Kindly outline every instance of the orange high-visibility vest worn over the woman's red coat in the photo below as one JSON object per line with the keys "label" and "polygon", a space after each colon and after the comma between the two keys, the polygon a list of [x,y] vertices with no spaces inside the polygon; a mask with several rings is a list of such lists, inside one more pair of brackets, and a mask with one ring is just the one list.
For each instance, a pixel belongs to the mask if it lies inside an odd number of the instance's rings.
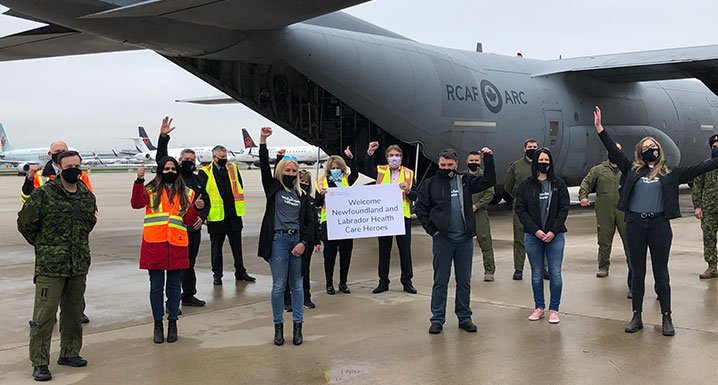
{"label": "orange high-visibility vest worn over the woman's red coat", "polygon": [[[169,200],[169,194],[166,188],[162,188],[162,197],[157,210],[154,210],[155,194],[151,189],[146,188],[145,194],[150,198],[150,202],[145,208],[145,222],[142,229],[142,239],[149,243],[169,242],[173,246],[187,246],[189,238],[187,237],[187,226],[180,214],[180,197],[175,195],[172,202]],[[187,189],[187,199],[192,204],[194,200],[194,191]]]}

